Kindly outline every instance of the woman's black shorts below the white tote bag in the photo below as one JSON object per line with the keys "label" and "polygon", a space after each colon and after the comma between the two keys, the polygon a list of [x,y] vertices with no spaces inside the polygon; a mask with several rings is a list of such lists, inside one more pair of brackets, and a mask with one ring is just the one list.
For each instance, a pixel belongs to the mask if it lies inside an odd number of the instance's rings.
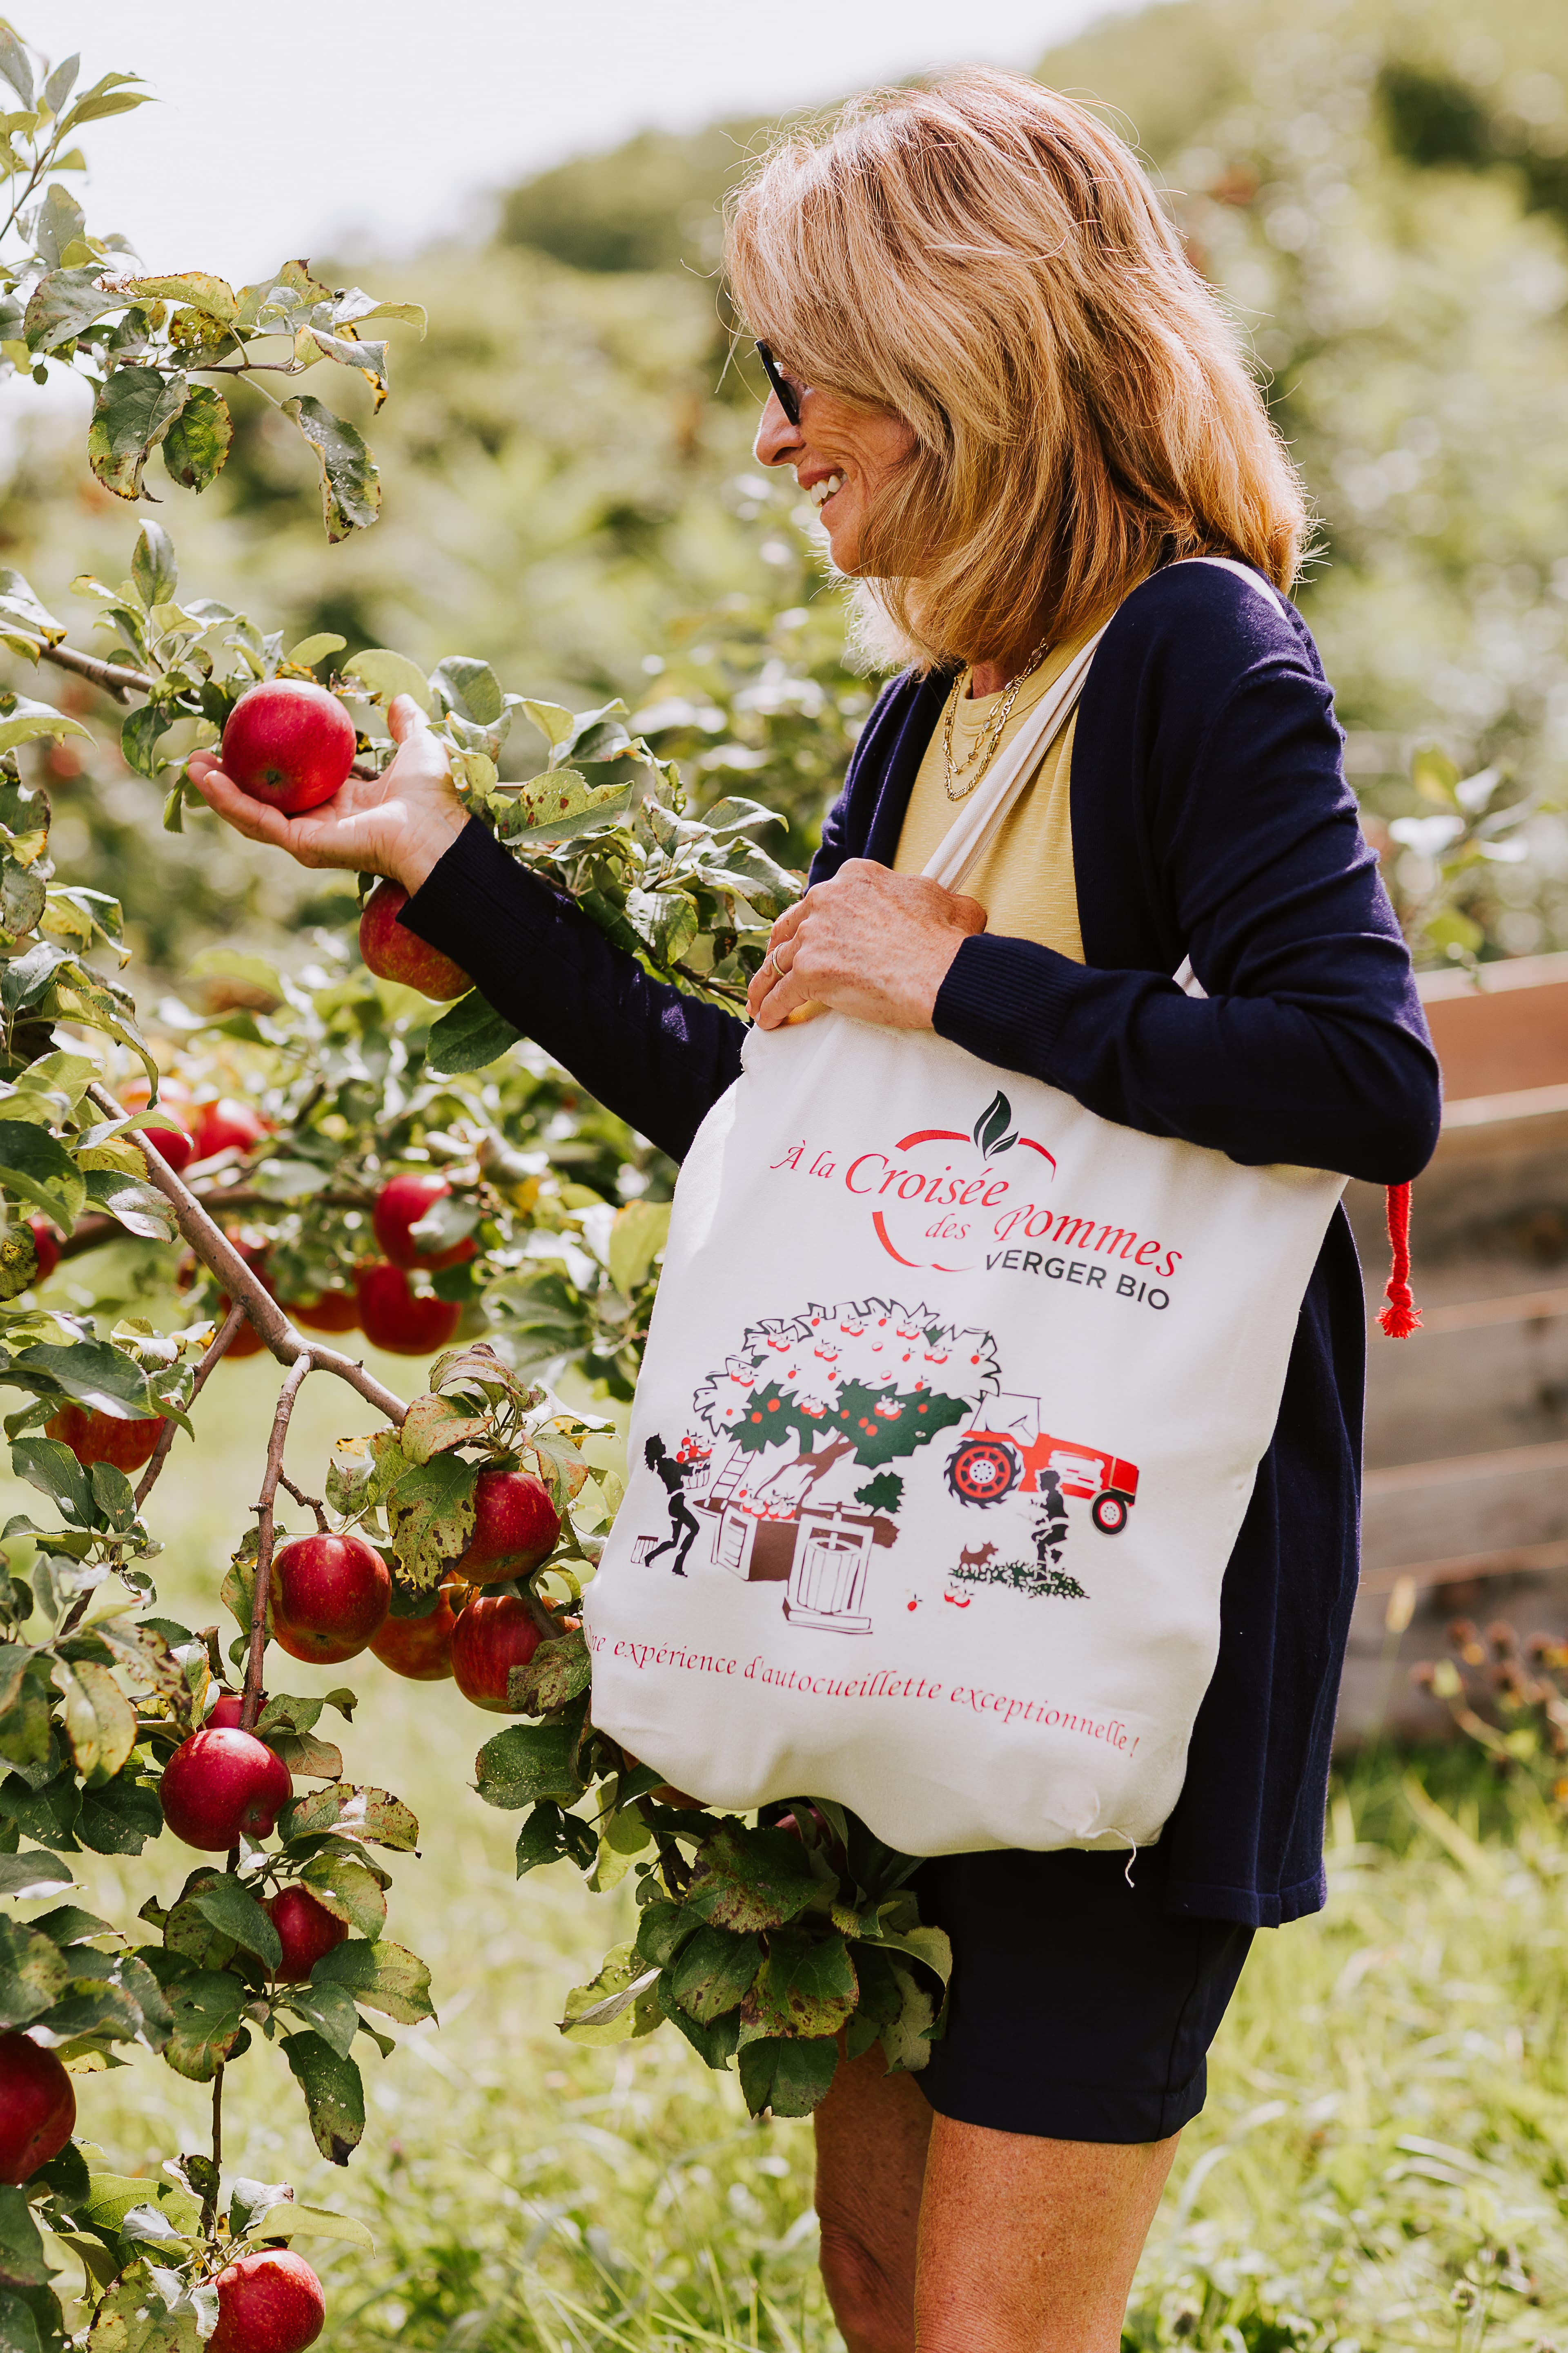
{"label": "woman's black shorts below the white tote bag", "polygon": [[[1131,1885],[1128,1885],[1131,1878]],[[938,2115],[1053,2141],[1164,2141],[1208,2089],[1208,2045],[1253,1929],[1164,1908],[1164,1857],[940,1854],[912,1885],[952,1939],[947,2033],[914,2078]]]}

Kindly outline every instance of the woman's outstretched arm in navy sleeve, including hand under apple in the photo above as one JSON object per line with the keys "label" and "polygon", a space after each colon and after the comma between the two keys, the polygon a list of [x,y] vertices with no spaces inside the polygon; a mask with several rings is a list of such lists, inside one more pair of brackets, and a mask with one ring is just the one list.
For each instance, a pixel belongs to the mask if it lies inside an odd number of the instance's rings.
{"label": "woman's outstretched arm in navy sleeve, including hand under apple", "polygon": [[649,979],[468,819],[418,704],[400,694],[388,718],[397,739],[390,767],[350,776],[306,816],[252,800],[216,753],[193,753],[190,776],[247,840],[287,849],[301,866],[402,882],[409,906],[400,920],[456,958],[498,1014],[679,1160],[741,1071],[741,1021]]}

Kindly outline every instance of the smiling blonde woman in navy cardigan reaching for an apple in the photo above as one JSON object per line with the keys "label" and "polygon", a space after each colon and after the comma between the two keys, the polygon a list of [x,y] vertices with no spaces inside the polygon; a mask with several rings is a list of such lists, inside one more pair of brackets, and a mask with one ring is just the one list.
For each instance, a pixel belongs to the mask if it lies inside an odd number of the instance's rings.
{"label": "smiling blonde woman in navy cardigan reaching for an apple", "polygon": [[[905,664],[773,927],[755,1019],[816,1000],[933,1028],[1147,1134],[1410,1179],[1439,1078],[1286,602],[1300,487],[1128,148],[999,73],[877,94],[759,167],[729,271],[773,381],[757,459],[820,506],[863,635]],[[966,894],[924,880],[1107,619],[1077,720]],[[411,704],[393,732],[381,781],[292,821],[212,755],[193,772],[252,840],[404,882],[404,922],[679,1158],[736,1078],[741,1024],[649,981],[465,824]],[[1204,998],[1171,979],[1185,958]],[[922,1866],[954,1941],[947,2038],[919,2078],[842,2066],[818,2111],[851,2353],[1117,2346],[1253,1929],[1324,1904],[1361,1372],[1340,1212],[1159,1845],[1135,1868],[1074,1849]]]}

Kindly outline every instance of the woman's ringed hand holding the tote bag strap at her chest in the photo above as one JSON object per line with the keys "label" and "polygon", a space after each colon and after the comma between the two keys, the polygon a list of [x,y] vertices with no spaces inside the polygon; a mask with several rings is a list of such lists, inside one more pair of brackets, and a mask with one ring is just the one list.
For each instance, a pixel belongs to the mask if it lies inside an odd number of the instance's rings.
{"label": "woman's ringed hand holding the tote bag strap at her chest", "polygon": [[931,1028],[952,958],[983,929],[978,899],[846,859],[778,918],[745,1002],[762,1028],[811,1000],[884,1028]]}

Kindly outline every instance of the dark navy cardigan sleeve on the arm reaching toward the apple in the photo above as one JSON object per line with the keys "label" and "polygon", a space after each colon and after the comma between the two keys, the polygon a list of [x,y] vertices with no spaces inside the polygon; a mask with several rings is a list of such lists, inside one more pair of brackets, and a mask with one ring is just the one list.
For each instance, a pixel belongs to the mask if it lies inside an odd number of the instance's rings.
{"label": "dark navy cardigan sleeve on the arm reaching toward the apple", "polygon": [[672,1160],[741,1075],[745,1028],[733,1014],[651,979],[477,816],[397,920]]}

